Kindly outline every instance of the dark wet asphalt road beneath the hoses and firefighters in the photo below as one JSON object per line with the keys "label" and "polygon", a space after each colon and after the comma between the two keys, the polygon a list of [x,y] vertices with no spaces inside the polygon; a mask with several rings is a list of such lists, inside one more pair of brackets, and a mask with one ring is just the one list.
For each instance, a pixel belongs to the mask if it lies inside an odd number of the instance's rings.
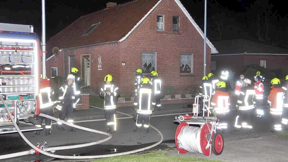
{"label": "dark wet asphalt road beneath the hoses and firefighters", "polygon": [[[235,104],[232,100],[231,105]],[[177,125],[173,123],[175,115],[167,114],[184,114],[190,112],[191,108],[183,108],[186,104],[171,104],[163,105],[163,109],[166,111],[155,111],[154,117],[150,119],[150,124],[159,129],[164,137],[163,143],[157,148],[174,147],[175,130]],[[268,113],[267,107],[265,107],[266,114]],[[118,108],[117,111],[131,114],[132,109],[129,107]],[[103,110],[93,109],[93,111],[98,113],[103,113]],[[77,113],[77,112],[75,112]],[[83,112],[81,112],[83,113]],[[251,136],[259,136],[265,134],[271,134],[270,131],[273,129],[271,118],[267,116],[263,119],[253,119],[253,131],[250,135],[240,132],[239,134],[230,134],[229,131],[233,126],[235,119],[236,110],[231,108],[228,120],[231,125],[228,126],[228,131],[224,134],[225,140],[234,140],[239,138],[247,138]],[[117,114],[117,117],[125,117],[125,115]],[[79,118],[80,119],[80,118]],[[106,121],[78,121],[75,123],[83,127],[88,127],[92,129],[97,129],[100,131],[107,131]],[[64,126],[65,127],[65,126]],[[65,127],[66,128],[66,127]],[[153,129],[150,129],[150,133],[136,133],[132,130],[135,128],[135,122],[131,118],[119,119],[117,120],[117,132],[113,133],[112,139],[102,144],[95,146],[89,146],[81,149],[70,149],[65,151],[57,151],[55,154],[59,155],[101,155],[101,154],[113,154],[114,152],[124,152],[134,149],[139,149],[145,146],[156,143],[160,140],[160,135]],[[25,137],[28,138],[33,144],[36,145],[37,142],[43,143],[46,141],[47,147],[52,146],[64,146],[71,144],[82,144],[91,141],[98,141],[105,138],[105,135],[95,134],[83,130],[76,129],[76,132],[67,132],[57,130],[55,125],[52,125],[52,134],[45,136],[45,132],[42,131],[39,136],[36,136],[34,132],[25,132]],[[0,136],[1,146],[0,155],[11,154],[20,151],[27,151],[31,148],[24,142],[23,139],[18,134],[6,134]],[[26,155],[16,158],[10,158],[0,161],[15,162],[15,161],[54,161],[54,158],[47,157],[44,155]],[[71,161],[71,160],[70,160]]]}

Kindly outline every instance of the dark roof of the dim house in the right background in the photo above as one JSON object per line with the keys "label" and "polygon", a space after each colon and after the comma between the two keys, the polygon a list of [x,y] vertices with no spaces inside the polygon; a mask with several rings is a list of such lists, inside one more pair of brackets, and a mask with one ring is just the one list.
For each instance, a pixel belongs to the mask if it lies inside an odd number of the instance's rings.
{"label": "dark roof of the dim house in the right background", "polygon": [[219,54],[288,54],[287,49],[243,39],[223,40],[213,42],[213,45],[217,48]]}

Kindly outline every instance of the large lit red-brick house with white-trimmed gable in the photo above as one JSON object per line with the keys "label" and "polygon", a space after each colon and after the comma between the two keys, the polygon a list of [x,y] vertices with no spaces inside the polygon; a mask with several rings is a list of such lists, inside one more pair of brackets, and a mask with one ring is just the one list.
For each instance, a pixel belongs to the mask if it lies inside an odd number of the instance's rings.
{"label": "large lit red-brick house with white-trimmed gable", "polygon": [[[157,71],[163,87],[184,92],[201,82],[203,45],[203,32],[179,0],[110,2],[47,41],[47,77],[67,77],[75,66],[82,86],[98,91],[104,76],[112,74],[121,93],[131,94],[135,71],[142,68],[145,76]],[[53,47],[61,49],[56,57]],[[207,39],[207,72],[213,53],[217,50]]]}

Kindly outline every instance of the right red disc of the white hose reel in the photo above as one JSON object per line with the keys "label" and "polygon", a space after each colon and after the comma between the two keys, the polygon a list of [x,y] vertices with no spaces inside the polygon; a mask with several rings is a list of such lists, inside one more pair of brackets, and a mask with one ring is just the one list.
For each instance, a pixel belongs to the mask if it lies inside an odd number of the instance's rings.
{"label": "right red disc of the white hose reel", "polygon": [[[208,125],[209,125],[209,129],[211,130],[212,125],[210,123],[208,123]],[[206,156],[210,155],[210,147],[208,147],[208,149],[206,149],[206,146],[207,146],[208,140],[209,140],[209,139],[207,140],[206,135],[210,134],[209,129],[208,129],[207,124],[204,124],[202,129],[201,129],[201,132],[200,132],[200,146],[201,146],[201,150],[202,150],[203,154]],[[212,133],[212,135],[213,135],[213,133]]]}

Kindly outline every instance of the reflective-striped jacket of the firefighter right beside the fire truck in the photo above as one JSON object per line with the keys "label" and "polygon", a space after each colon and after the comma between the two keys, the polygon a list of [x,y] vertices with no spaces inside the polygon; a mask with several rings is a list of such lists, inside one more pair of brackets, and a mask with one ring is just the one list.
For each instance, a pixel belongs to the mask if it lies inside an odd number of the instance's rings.
{"label": "reflective-striped jacket of the firefighter right beside the fire truck", "polygon": [[40,89],[39,93],[40,109],[53,106],[57,103],[54,90],[51,90],[50,87]]}

